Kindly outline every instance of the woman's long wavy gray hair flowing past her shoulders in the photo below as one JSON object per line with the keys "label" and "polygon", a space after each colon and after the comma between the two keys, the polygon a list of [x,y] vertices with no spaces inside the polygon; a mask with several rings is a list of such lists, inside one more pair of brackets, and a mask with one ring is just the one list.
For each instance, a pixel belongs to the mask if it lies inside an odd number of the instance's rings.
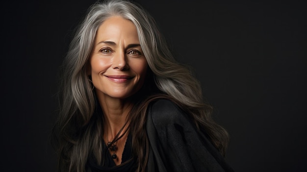
{"label": "woman's long wavy gray hair flowing past her shoulders", "polygon": [[[98,164],[102,162],[103,117],[95,117],[93,120],[97,104],[87,66],[96,32],[99,26],[112,16],[121,16],[133,22],[155,88],[165,95],[164,97],[173,99],[185,108],[196,125],[205,129],[215,147],[225,154],[228,145],[227,132],[211,119],[212,108],[204,102],[199,81],[187,67],[176,62],[153,18],[135,3],[127,0],[106,0],[97,1],[90,6],[63,61],[59,117],[53,129],[54,143],[59,154],[58,169],[83,172],[91,153]],[[156,96],[158,97],[161,96]],[[130,114],[131,125],[139,125],[136,127],[139,131],[134,132],[136,135],[132,133],[132,148],[138,159],[138,171],[146,170],[148,152],[144,154],[143,150],[148,146],[148,140],[141,125],[146,119],[147,105],[153,99],[146,99],[142,106],[134,108],[135,112],[139,112],[136,113],[138,115],[132,117]]]}

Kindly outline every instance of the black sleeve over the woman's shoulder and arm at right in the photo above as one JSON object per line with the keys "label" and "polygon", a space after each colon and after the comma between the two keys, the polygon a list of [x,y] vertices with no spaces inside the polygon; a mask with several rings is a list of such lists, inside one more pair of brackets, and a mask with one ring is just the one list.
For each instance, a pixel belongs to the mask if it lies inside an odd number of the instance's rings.
{"label": "black sleeve over the woman's shoulder and arm at right", "polygon": [[148,170],[155,172],[233,172],[187,115],[170,100],[152,104],[147,116]]}

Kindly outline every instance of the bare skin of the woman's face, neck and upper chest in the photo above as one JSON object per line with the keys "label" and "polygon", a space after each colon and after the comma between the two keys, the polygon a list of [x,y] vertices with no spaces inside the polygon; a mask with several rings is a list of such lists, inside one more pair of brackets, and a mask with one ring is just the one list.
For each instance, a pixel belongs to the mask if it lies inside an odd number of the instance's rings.
{"label": "bare skin of the woman's face, neck and upper chest", "polygon": [[[147,68],[135,25],[118,16],[104,21],[96,34],[89,71],[106,119],[106,143],[124,126],[132,107],[129,97],[142,87]],[[116,143],[117,165],[121,163],[126,140],[127,134]]]}

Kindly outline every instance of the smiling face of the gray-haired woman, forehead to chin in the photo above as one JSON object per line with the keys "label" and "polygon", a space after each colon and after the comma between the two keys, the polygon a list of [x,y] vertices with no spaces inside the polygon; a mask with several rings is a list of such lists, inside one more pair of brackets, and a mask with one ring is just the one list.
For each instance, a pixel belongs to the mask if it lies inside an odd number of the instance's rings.
{"label": "smiling face of the gray-haired woman, forehead to chin", "polygon": [[98,96],[128,98],[143,85],[147,61],[135,25],[111,17],[99,27],[90,57],[90,73]]}

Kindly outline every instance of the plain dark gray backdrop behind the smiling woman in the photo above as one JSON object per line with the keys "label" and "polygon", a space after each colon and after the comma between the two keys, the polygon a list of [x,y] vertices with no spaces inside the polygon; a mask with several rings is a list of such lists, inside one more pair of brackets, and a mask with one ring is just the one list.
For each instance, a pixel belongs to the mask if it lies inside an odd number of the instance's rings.
{"label": "plain dark gray backdrop behind the smiling woman", "polygon": [[[56,74],[95,0],[1,5],[0,171],[54,172]],[[307,171],[304,0],[138,0],[176,58],[193,67],[230,133],[236,172]]]}

